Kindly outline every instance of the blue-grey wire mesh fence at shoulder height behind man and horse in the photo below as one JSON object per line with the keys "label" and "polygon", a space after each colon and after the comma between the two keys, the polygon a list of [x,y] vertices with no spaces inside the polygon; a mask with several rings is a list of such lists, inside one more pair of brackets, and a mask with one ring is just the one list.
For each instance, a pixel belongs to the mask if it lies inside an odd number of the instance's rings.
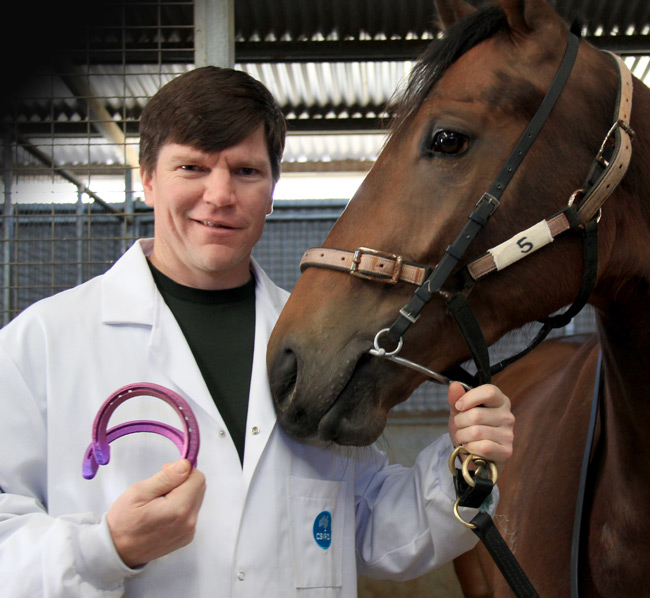
{"label": "blue-grey wire mesh fence at shoulder height behind man and horse", "polygon": [[[303,252],[322,243],[344,207],[344,201],[276,202],[254,257],[277,284],[292,290]],[[6,324],[35,301],[102,274],[136,239],[153,235],[153,214],[147,206],[135,202],[130,212],[120,208],[107,213],[93,203],[15,204],[3,215],[0,322]],[[593,330],[593,310],[587,307],[553,335]],[[491,349],[493,361],[523,348],[535,333],[535,325],[510,333]],[[445,409],[445,389],[425,383],[395,413]]]}

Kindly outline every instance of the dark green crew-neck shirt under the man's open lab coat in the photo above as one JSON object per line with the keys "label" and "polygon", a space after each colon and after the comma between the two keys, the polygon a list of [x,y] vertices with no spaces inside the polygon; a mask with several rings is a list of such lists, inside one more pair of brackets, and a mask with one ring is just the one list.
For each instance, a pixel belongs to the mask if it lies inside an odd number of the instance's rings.
{"label": "dark green crew-neck shirt under the man's open lab coat", "polygon": [[222,291],[186,287],[149,267],[244,460],[255,341],[255,278]]}

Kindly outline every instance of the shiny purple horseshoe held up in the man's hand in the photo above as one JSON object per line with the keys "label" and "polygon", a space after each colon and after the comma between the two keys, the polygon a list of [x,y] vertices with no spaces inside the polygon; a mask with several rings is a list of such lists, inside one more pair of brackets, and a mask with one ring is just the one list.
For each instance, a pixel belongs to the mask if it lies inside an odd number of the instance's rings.
{"label": "shiny purple horseshoe held up in the man's hand", "polygon": [[[138,396],[152,396],[162,399],[174,408],[183,423],[185,433],[162,422],[138,420],[114,426],[107,430],[108,421],[124,401]],[[92,442],[86,449],[82,465],[83,477],[90,480],[95,477],[100,465],[106,465],[111,458],[109,444],[136,432],[152,432],[169,438],[181,452],[181,457],[187,459],[192,467],[196,467],[196,457],[199,453],[199,426],[187,401],[178,393],[150,382],[127,384],[116,390],[101,406],[93,422]]]}

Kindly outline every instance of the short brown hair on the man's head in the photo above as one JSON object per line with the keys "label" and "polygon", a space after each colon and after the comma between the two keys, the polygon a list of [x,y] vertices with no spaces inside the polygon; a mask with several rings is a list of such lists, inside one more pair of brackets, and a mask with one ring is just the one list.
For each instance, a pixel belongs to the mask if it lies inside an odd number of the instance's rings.
{"label": "short brown hair on the man's head", "polygon": [[264,125],[273,180],[280,178],[286,122],[259,81],[233,69],[205,66],[176,77],[147,103],[140,117],[140,165],[151,174],[166,143],[215,153]]}

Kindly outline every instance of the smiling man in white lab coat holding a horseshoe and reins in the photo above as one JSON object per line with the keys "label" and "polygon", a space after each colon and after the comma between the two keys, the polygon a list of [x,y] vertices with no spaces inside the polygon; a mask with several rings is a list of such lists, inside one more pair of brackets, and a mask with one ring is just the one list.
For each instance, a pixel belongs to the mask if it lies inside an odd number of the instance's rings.
{"label": "smiling man in white lab coat holding a horseshoe and reins", "polygon": [[[287,293],[250,254],[284,135],[269,92],[246,74],[174,79],[141,119],[154,240],[0,331],[4,595],[355,596],[357,571],[415,576],[474,544],[451,514],[449,438],[406,469],[375,449],[297,443],[276,425],[265,350]],[[136,434],[83,479],[98,408],[145,381],[191,405],[198,468],[168,440]],[[454,440],[482,439],[503,464],[507,398],[491,386],[461,395],[450,393]],[[111,425],[178,425],[169,411],[138,397]]]}

